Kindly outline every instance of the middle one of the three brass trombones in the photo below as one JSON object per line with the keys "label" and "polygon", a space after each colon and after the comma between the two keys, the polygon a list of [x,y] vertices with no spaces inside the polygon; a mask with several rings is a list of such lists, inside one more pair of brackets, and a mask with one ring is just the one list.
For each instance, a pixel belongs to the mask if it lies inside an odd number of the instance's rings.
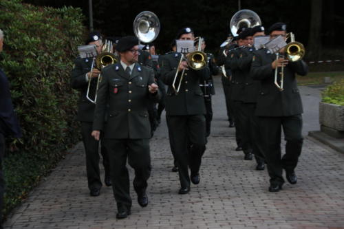
{"label": "middle one of the three brass trombones", "polygon": [[175,91],[175,94],[178,94],[180,90],[180,86],[182,85],[182,80],[184,78],[185,69],[182,70],[182,74],[180,75],[178,85],[175,84],[178,78],[178,69],[180,65],[182,64],[182,61],[186,61],[188,66],[195,70],[204,69],[204,67],[206,67],[206,54],[201,51],[201,47],[202,47],[202,38],[199,37],[197,51],[193,51],[186,55],[182,54],[180,56],[177,72],[175,72],[175,76],[173,78],[173,83],[172,83],[172,87],[173,87],[173,90]]}

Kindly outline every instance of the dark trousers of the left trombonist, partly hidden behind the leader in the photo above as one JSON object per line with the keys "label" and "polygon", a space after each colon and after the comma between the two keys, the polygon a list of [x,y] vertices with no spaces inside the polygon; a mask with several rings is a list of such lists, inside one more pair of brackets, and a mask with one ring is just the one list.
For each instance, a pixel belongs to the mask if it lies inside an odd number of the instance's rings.
{"label": "dark trousers of the left trombonist, partly hidden behind the leader", "polygon": [[[90,190],[93,188],[100,189],[102,187],[99,169],[99,141],[95,140],[91,135],[92,124],[93,122],[81,122],[81,134],[83,135],[83,144],[86,153],[87,182]],[[105,175],[109,175],[109,156],[103,144],[101,144],[100,153],[103,156]]]}

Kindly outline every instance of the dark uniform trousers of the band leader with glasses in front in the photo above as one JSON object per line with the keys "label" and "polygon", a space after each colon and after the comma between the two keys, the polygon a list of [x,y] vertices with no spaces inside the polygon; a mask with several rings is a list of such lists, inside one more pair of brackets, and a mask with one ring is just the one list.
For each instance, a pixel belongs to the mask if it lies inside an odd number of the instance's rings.
{"label": "dark uniform trousers of the band leader with glasses in front", "polygon": [[104,139],[109,152],[110,177],[118,209],[131,208],[128,164],[134,169],[133,188],[138,195],[147,189],[151,176],[149,139]]}

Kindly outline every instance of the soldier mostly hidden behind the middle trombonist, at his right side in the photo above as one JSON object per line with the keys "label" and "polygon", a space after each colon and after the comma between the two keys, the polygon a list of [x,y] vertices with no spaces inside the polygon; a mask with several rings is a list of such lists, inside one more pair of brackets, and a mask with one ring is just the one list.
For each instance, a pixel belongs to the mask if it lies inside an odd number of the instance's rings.
{"label": "soldier mostly hidden behind the middle trombonist, at his right side", "polygon": [[[198,47],[198,42],[196,43]],[[206,41],[202,37],[201,51],[204,52],[206,48]],[[215,88],[213,83],[213,76],[219,74],[219,67],[215,64],[214,55],[211,53],[206,53],[206,63],[210,69],[210,76],[208,80],[201,82],[200,87],[204,96],[204,104],[206,105],[206,137],[211,135],[211,120],[213,120],[213,107],[211,103],[211,96],[215,95]]]}

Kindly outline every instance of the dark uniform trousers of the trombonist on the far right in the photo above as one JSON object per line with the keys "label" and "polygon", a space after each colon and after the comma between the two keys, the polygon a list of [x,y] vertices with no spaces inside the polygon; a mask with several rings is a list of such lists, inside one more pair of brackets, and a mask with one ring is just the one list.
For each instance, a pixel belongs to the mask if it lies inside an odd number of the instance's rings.
{"label": "dark uniform trousers of the trombonist on the far right", "polygon": [[[281,157],[281,129],[286,140],[286,154]],[[283,168],[294,171],[302,150],[302,116],[259,116],[259,132],[270,184],[283,184]]]}

